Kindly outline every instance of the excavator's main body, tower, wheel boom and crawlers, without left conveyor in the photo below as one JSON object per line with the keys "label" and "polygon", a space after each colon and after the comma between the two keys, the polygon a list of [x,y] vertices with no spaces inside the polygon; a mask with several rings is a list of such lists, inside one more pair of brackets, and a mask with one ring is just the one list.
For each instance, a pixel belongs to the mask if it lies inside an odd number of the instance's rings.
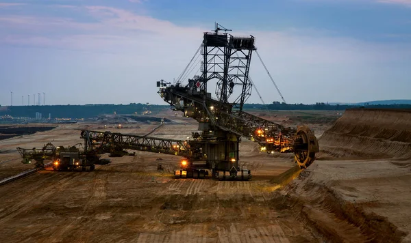
{"label": "excavator's main body, tower, wheel boom and crawlers, without left conveyor", "polygon": [[[251,55],[256,51],[255,38],[235,37],[227,31],[231,30],[216,24],[214,32],[203,34],[199,48],[201,76],[188,79],[187,85],[181,81],[157,82],[164,101],[175,111],[196,119],[201,131],[195,132],[190,142],[197,153],[183,160],[182,169],[175,171],[175,175],[208,169],[219,179],[249,178],[251,171],[240,166],[238,157],[241,137],[256,141],[261,151],[294,153],[301,169],[310,166],[319,152],[318,141],[310,128],[285,128],[242,110],[251,95],[249,68]],[[216,98],[208,92],[213,82]]]}

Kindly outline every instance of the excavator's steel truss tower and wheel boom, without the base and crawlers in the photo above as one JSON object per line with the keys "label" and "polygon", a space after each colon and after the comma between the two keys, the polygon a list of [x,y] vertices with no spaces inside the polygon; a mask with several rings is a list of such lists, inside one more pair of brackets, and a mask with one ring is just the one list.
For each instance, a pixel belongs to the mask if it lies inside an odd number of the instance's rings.
{"label": "excavator's steel truss tower and wheel boom, without the base and crawlers", "polygon": [[[158,93],[176,111],[182,111],[186,117],[199,122],[199,130],[202,131],[199,137],[203,140],[210,139],[210,134],[223,134],[219,138],[223,146],[227,143],[223,142],[225,137],[236,137],[235,143],[240,142],[240,137],[247,137],[258,142],[260,149],[267,153],[293,152],[298,165],[308,167],[319,151],[318,141],[308,127],[301,126],[297,130],[285,128],[242,111],[251,94],[249,68],[252,53],[256,51],[255,38],[252,35],[234,37],[227,31],[231,30],[216,24],[214,33],[204,33],[201,76],[188,79],[186,86],[181,83],[171,85],[162,80],[158,82]],[[217,100],[207,89],[207,83],[214,79]],[[240,96],[229,102],[236,86],[241,86]],[[214,164],[209,166],[209,169],[215,168]],[[238,169],[239,164],[236,166]]]}

